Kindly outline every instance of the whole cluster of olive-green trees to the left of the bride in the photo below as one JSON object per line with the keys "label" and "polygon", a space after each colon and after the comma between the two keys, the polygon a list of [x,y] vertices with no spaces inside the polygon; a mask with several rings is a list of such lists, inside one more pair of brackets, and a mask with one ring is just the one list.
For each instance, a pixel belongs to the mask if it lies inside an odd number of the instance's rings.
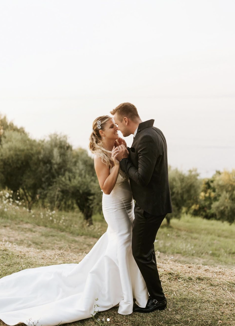
{"label": "whole cluster of olive-green trees to the left of the bride", "polygon": [[0,120],[0,186],[20,196],[29,210],[39,202],[51,209],[79,207],[88,224],[101,211],[101,190],[94,161],[86,150],[73,150],[66,135],[30,139],[23,128]]}

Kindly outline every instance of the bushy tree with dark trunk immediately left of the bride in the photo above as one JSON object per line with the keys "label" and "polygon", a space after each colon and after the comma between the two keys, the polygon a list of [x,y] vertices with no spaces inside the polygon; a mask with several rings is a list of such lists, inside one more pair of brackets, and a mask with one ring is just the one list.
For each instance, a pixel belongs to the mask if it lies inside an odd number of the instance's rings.
{"label": "bushy tree with dark trunk immediately left of the bride", "polygon": [[86,150],[77,149],[69,169],[49,187],[47,199],[52,206],[65,210],[76,204],[87,223],[92,224],[92,214],[101,211],[101,194],[93,159]]}

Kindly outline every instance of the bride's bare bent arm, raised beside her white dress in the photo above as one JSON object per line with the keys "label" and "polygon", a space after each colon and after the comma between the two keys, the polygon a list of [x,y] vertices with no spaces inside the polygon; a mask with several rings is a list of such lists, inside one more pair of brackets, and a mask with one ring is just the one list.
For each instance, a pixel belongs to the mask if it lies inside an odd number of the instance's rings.
{"label": "bride's bare bent arm, raised beside her white dress", "polygon": [[118,173],[119,173],[119,162],[114,165],[114,168],[110,170],[106,165],[101,161],[101,157],[94,157],[95,172],[99,181],[100,188],[106,195],[110,195],[110,192],[113,190]]}

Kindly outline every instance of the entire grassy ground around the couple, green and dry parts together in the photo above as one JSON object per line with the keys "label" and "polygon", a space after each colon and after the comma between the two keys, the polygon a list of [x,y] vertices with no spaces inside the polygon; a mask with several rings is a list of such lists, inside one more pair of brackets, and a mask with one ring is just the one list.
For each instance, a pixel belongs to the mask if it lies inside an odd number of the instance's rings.
{"label": "entire grassy ground around the couple, green and dry parts together", "polygon": [[[77,263],[107,229],[100,215],[94,216],[92,227],[79,213],[12,208],[1,209],[0,216],[0,277],[25,268]],[[234,234],[235,225],[199,217],[173,219],[170,228],[164,221],[155,250],[168,308],[123,316],[114,307],[71,325],[235,325]]]}

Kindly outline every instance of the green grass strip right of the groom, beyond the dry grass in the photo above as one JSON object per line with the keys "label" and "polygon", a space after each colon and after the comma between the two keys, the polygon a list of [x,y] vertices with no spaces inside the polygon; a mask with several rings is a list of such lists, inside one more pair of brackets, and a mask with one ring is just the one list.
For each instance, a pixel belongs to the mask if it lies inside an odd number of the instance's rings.
{"label": "green grass strip right of the groom, beyond the dry grass", "polygon": [[184,215],[160,227],[155,251],[179,262],[200,263],[220,267],[235,266],[235,224],[209,221]]}

